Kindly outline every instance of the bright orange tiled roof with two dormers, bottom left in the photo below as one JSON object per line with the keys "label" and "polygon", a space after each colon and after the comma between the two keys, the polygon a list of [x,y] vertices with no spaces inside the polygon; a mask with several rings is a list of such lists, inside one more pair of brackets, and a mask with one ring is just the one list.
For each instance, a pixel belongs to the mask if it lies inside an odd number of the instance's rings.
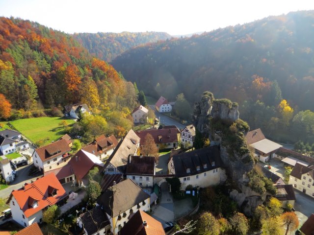
{"label": "bright orange tiled roof with two dormers, bottom left", "polygon": [[[57,195],[52,196],[48,193],[48,188],[57,189]],[[54,174],[49,174],[40,179],[37,179],[31,184],[25,184],[23,188],[13,190],[8,201],[14,196],[15,200],[19,204],[21,210],[28,218],[34,213],[41,211],[42,209],[52,206],[66,196],[64,188]],[[32,205],[34,201],[38,201],[36,208],[29,207],[29,203]]]}

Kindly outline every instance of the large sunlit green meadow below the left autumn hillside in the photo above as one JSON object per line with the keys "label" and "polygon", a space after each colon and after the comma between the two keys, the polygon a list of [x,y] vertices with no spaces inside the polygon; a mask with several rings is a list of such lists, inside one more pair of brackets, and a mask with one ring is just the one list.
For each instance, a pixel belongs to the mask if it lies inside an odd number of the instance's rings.
{"label": "large sunlit green meadow below the left autumn hillside", "polygon": [[[30,141],[34,143],[42,141],[40,145],[45,145],[66,134],[63,126],[59,126],[63,119],[59,117],[26,118],[10,123]],[[70,126],[75,122],[71,119],[66,119],[66,121]]]}

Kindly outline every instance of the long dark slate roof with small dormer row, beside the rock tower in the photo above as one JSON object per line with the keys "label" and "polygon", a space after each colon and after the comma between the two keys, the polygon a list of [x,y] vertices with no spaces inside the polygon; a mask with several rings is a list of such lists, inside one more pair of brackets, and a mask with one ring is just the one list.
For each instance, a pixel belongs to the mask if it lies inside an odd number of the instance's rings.
{"label": "long dark slate roof with small dormer row, beside the rock tower", "polygon": [[[206,148],[174,155],[172,159],[175,167],[176,177],[196,175],[223,166],[218,146],[209,146]],[[204,168],[204,164],[207,165],[206,168]],[[199,170],[197,170],[197,166],[200,167]],[[187,168],[190,169],[189,173],[186,172]]]}

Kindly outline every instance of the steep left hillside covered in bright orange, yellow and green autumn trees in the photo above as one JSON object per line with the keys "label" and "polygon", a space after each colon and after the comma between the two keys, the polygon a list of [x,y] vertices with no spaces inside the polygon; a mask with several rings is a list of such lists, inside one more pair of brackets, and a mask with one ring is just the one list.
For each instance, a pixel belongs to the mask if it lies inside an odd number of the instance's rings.
{"label": "steep left hillside covered in bright orange, yellow and green autumn trees", "polygon": [[131,82],[93,58],[71,35],[0,18],[0,118],[39,117],[44,108],[62,110],[81,102],[101,114],[107,133],[122,136],[132,126],[130,110],[136,99]]}

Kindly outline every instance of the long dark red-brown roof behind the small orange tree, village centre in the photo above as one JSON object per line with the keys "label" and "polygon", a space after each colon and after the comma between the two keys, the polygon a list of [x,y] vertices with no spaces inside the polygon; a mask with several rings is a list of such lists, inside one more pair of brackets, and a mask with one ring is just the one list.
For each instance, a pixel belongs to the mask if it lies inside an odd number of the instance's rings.
{"label": "long dark red-brown roof behind the small orange tree, village centre", "polygon": [[[156,144],[158,143],[170,143],[170,142],[178,142],[177,129],[149,129],[144,131],[135,132],[136,135],[141,138],[140,145],[143,145],[145,142],[145,137],[147,134],[151,134],[154,138]],[[159,141],[160,140],[160,141]]]}

